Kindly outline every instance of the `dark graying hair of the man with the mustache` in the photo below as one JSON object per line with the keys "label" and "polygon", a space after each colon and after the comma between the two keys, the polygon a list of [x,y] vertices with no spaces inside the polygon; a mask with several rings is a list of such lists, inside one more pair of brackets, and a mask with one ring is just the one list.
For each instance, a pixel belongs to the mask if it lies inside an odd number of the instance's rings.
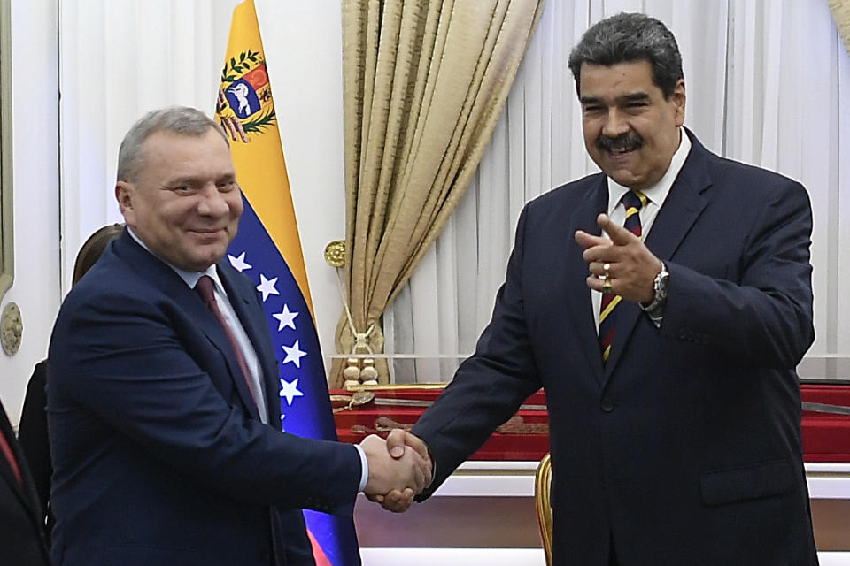
{"label": "dark graying hair of the man with the mustache", "polygon": [[579,75],[584,63],[611,66],[633,61],[653,65],[653,83],[665,98],[684,79],[682,56],[673,33],[658,19],[621,12],[594,24],[570,52],[568,64],[576,80],[576,93],[581,96]]}

